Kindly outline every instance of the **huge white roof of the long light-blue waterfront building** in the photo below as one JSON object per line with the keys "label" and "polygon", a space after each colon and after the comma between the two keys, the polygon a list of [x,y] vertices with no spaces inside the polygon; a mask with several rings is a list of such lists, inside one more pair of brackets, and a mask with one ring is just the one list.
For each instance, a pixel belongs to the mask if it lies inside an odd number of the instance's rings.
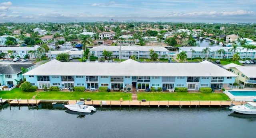
{"label": "huge white roof of the long light-blue waterfront building", "polygon": [[51,60],[24,75],[40,76],[228,76],[235,74],[208,61],[200,63],[60,62]]}

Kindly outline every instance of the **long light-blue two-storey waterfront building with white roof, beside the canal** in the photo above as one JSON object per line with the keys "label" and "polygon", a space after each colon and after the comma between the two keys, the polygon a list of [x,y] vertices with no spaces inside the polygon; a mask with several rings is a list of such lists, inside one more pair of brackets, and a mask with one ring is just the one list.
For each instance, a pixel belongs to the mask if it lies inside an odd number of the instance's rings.
{"label": "long light-blue two-storey waterfront building with white roof, beside the canal", "polygon": [[[54,66],[54,68],[52,68]],[[236,74],[208,61],[200,63],[140,63],[128,59],[119,63],[60,62],[51,60],[23,74],[28,82],[42,89],[58,86],[68,89],[84,86],[86,89],[124,89],[132,85],[137,89],[161,87],[174,89],[200,87],[222,89],[233,84]]]}

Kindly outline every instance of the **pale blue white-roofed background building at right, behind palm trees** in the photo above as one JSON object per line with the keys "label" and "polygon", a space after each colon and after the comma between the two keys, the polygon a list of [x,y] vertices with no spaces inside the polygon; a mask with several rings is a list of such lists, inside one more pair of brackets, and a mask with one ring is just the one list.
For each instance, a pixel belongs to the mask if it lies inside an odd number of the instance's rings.
{"label": "pale blue white-roofed background building at right, behind palm trees", "polygon": [[[206,58],[206,53],[202,52],[203,49],[205,49],[206,47],[179,47],[179,52],[185,51],[187,52],[187,58],[196,58],[196,57],[200,57],[200,58]],[[208,47],[210,49],[210,52],[208,54],[208,57],[210,58],[233,58],[234,55],[234,51],[231,51],[230,49],[232,49],[232,47],[219,47],[219,46],[215,46],[215,47]],[[192,50],[194,50],[194,52],[192,53]],[[218,53],[218,50],[223,49],[225,51],[225,54]],[[247,55],[246,55],[246,49],[243,49],[243,47],[238,47],[238,53],[240,58],[251,58],[254,59],[256,58],[256,50],[252,50],[249,49],[247,51]]]}

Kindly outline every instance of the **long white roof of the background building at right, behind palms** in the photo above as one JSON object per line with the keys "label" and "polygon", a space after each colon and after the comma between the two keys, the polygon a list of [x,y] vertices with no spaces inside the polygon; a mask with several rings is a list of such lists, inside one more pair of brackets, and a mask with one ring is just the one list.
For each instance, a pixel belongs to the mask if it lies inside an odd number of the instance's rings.
{"label": "long white roof of the background building at right, behind palms", "polygon": [[[179,49],[181,49],[182,51],[187,51],[187,52],[191,52],[190,49],[194,49],[195,52],[202,52],[202,50],[205,48],[206,47],[179,47]],[[228,49],[232,49],[232,47],[219,47],[219,46],[208,47],[208,48],[210,48],[210,51],[218,51],[220,49],[224,49],[224,51],[226,52],[228,52]],[[246,48],[245,49],[243,48],[244,47],[238,47],[238,52],[246,52]],[[233,52],[233,51],[229,51],[229,52]],[[249,49],[248,52],[256,52],[256,50]]]}

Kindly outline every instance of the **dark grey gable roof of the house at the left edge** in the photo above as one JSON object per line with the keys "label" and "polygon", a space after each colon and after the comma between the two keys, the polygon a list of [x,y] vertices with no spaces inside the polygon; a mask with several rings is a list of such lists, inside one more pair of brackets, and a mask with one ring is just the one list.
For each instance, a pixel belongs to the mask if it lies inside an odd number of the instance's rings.
{"label": "dark grey gable roof of the house at the left edge", "polygon": [[35,64],[0,64],[0,74],[18,74],[22,72],[21,67],[30,68]]}

